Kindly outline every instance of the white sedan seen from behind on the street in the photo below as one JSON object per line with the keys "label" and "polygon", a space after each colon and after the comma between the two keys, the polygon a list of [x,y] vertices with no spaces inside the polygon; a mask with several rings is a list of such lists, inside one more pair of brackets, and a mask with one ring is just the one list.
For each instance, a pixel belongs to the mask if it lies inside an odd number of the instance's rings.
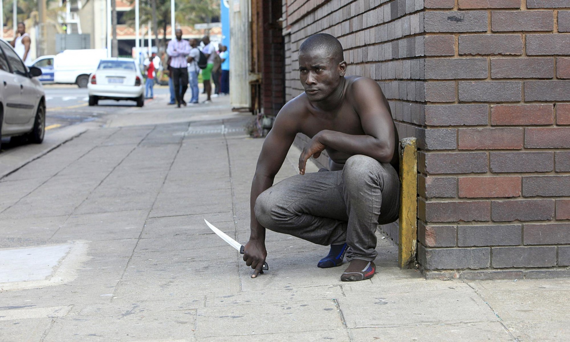
{"label": "white sedan seen from behind on the street", "polygon": [[144,105],[143,75],[131,58],[107,58],[89,75],[87,84],[89,105],[99,100],[133,100],[138,107]]}

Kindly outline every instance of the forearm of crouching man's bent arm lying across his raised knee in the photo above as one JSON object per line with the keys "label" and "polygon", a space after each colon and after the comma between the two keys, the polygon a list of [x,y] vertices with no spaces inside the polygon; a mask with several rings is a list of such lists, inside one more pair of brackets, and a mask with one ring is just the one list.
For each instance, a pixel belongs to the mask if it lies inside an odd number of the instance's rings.
{"label": "forearm of crouching man's bent arm lying across his raised knee", "polygon": [[383,142],[369,135],[349,135],[325,129],[315,137],[329,148],[351,155],[363,154],[379,162],[390,162],[394,154],[393,142]]}

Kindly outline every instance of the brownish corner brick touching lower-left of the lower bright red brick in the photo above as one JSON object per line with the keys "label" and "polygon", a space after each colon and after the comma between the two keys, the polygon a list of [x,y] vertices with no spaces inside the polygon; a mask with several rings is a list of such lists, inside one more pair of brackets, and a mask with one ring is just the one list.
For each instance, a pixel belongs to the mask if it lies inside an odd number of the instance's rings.
{"label": "brownish corner brick touching lower-left of the lower bright red brick", "polygon": [[418,214],[427,222],[489,221],[489,201],[424,202],[418,201]]}

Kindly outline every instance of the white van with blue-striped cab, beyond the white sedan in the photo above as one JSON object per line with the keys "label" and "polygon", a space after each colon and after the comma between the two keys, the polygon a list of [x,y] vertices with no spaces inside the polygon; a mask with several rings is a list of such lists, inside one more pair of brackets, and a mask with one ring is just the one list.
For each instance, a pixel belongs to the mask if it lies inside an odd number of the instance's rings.
{"label": "white van with blue-striped cab, beyond the white sedan", "polygon": [[106,48],[65,50],[57,55],[46,55],[32,62],[42,70],[42,83],[77,84],[87,88],[89,74],[95,71],[101,58],[107,57]]}

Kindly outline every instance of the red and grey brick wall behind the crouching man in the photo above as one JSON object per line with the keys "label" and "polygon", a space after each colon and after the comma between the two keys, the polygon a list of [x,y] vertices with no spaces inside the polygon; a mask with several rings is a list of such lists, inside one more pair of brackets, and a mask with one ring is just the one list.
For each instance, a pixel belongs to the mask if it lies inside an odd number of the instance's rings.
{"label": "red and grey brick wall behind the crouching man", "polygon": [[426,275],[570,275],[570,0],[284,0],[283,15],[286,100],[300,43],[327,32],[418,138]]}

